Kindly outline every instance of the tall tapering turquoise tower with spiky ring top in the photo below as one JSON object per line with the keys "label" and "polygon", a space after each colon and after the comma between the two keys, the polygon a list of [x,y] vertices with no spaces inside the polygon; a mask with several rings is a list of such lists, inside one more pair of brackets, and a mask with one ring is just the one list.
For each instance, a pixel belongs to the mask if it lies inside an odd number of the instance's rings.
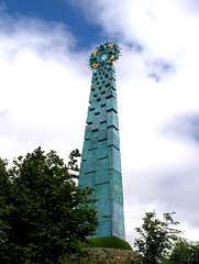
{"label": "tall tapering turquoise tower with spiky ring top", "polygon": [[[87,125],[82,147],[79,187],[91,186],[98,199],[97,238],[115,235],[125,240],[123,188],[118,122],[115,69],[120,47],[107,42],[89,58],[92,69]],[[103,218],[110,216],[110,218]]]}

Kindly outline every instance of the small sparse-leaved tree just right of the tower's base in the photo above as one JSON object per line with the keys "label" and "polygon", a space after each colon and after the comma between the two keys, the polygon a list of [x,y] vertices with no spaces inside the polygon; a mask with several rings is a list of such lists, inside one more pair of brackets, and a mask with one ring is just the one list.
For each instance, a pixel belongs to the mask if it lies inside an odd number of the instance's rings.
{"label": "small sparse-leaved tree just right of the tower's base", "polygon": [[156,218],[156,212],[146,212],[143,218],[142,228],[136,228],[136,232],[141,238],[135,240],[135,246],[142,256],[142,263],[156,264],[161,263],[173,246],[173,242],[177,240],[179,230],[170,228],[178,224],[172,215],[167,212],[163,215],[164,221]]}

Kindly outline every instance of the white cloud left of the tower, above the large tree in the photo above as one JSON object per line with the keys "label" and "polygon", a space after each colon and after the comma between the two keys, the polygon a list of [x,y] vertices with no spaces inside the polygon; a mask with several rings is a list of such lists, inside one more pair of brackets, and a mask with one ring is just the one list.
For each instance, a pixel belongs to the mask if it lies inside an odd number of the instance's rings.
{"label": "white cloud left of the tower, above the large tree", "polygon": [[87,54],[73,51],[75,37],[62,24],[2,16],[1,156],[12,160],[42,145],[67,157],[82,145]]}

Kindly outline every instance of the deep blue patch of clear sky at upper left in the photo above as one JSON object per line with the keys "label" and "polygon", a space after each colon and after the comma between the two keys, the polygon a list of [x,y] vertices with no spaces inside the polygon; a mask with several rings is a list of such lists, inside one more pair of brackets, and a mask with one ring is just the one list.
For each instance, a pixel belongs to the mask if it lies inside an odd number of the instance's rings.
{"label": "deep blue patch of clear sky at upper left", "polygon": [[[70,2],[70,3],[69,3]],[[76,48],[89,47],[91,43],[101,41],[100,26],[85,20],[81,9],[71,1],[64,0],[7,0],[7,12],[11,15],[42,18],[45,21],[62,22],[78,38]]]}

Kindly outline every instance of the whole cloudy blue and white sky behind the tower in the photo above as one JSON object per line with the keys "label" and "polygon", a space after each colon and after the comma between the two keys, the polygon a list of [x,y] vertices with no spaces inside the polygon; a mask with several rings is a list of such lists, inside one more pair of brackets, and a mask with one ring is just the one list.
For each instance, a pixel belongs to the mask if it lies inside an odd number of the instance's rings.
{"label": "whole cloudy blue and white sky behind the tower", "polygon": [[199,240],[198,0],[0,0],[0,156],[82,150],[91,72],[115,64],[126,241],[146,211]]}

